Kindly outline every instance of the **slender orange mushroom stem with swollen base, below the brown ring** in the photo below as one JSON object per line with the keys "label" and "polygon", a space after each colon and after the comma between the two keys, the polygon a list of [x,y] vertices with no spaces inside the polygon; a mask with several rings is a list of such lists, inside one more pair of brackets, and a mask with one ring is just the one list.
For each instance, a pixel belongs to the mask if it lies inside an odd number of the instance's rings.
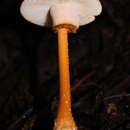
{"label": "slender orange mushroom stem with swollen base, below the brown ring", "polygon": [[60,96],[54,130],[77,130],[71,112],[68,29],[58,30]]}

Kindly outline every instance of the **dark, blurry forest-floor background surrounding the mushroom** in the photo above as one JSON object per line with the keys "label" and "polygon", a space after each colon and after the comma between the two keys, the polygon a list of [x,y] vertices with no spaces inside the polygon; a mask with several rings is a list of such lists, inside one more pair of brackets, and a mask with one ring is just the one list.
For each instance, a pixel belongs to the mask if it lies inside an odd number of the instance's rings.
{"label": "dark, blurry forest-floor background surrounding the mushroom", "polygon": [[[0,129],[52,130],[57,34],[0,1]],[[102,0],[93,23],[69,35],[73,113],[80,130],[130,130],[130,0]]]}

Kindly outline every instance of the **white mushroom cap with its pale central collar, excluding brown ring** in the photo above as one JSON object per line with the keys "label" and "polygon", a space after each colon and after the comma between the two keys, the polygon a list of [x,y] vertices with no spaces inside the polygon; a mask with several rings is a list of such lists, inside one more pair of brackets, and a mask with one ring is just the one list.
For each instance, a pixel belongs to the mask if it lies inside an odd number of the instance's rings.
{"label": "white mushroom cap with its pale central collar, excluding brown ring", "polygon": [[24,0],[21,14],[40,26],[69,23],[77,28],[94,21],[102,11],[99,0]]}

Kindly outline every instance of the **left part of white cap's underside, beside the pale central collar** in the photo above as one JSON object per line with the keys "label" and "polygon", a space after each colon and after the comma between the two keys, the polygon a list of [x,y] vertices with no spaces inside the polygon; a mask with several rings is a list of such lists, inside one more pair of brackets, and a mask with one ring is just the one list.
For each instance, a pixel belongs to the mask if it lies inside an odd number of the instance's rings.
{"label": "left part of white cap's underside, beside the pale central collar", "polygon": [[24,0],[20,12],[22,16],[29,22],[40,25],[51,25],[51,18],[49,14],[50,3],[42,2],[41,0]]}

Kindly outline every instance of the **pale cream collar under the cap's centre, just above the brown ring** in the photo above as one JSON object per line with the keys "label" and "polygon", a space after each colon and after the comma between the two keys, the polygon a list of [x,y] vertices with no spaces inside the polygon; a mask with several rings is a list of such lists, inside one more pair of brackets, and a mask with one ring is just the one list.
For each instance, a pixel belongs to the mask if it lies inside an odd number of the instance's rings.
{"label": "pale cream collar under the cap's centre, just above the brown ring", "polygon": [[53,5],[50,8],[53,26],[67,23],[79,28],[80,6],[76,2],[64,2]]}

